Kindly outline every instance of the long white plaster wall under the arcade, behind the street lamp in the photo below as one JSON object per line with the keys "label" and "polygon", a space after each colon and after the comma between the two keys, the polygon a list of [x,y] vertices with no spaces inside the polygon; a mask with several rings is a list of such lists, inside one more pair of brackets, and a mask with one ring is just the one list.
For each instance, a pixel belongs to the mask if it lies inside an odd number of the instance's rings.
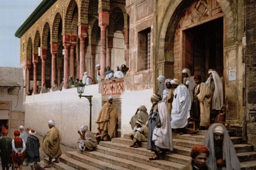
{"label": "long white plaster wall under the arcade, behind the street lamp", "polygon": [[[85,86],[83,95],[92,97],[92,132],[97,132],[95,120],[101,109],[101,94],[98,85]],[[48,92],[26,97],[25,125],[44,136],[49,130],[48,121],[53,119],[60,130],[62,143],[66,146],[77,146],[77,131],[82,125],[89,127],[89,101],[78,97],[77,88]]]}

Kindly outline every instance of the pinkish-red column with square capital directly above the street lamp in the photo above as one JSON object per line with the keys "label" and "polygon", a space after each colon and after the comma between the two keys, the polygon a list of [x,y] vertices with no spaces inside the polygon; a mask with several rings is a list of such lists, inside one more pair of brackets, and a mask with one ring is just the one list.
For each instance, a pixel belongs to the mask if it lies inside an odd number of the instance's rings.
{"label": "pinkish-red column with square capital directly above the street lamp", "polygon": [[85,73],[85,37],[87,37],[87,26],[80,25],[78,27],[78,36],[80,39],[80,69],[79,79],[82,80]]}

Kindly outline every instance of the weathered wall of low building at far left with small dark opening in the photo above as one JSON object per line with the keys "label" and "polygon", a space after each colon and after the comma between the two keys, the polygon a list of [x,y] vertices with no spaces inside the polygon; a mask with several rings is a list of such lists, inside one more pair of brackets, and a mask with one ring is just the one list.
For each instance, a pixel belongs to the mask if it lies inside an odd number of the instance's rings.
{"label": "weathered wall of low building at far left with small dark opening", "polygon": [[[15,67],[0,67],[0,101],[12,101],[12,110],[24,111],[23,107],[23,69]],[[6,86],[6,87],[3,87]],[[8,87],[20,86],[17,88],[17,95],[9,95]]]}

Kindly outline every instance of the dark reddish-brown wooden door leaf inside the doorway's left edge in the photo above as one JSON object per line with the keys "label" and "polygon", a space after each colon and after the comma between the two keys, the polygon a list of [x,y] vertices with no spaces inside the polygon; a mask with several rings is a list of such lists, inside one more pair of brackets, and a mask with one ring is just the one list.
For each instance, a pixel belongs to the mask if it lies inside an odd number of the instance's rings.
{"label": "dark reddish-brown wooden door leaf inside the doorway's left edge", "polygon": [[194,73],[194,35],[189,32],[183,32],[184,34],[184,66],[188,68],[191,74]]}

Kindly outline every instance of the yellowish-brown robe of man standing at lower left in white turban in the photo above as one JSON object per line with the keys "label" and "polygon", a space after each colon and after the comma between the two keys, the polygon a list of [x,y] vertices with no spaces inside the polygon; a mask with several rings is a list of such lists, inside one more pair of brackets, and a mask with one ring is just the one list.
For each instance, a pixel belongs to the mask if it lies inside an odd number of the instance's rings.
{"label": "yellowish-brown robe of man standing at lower left in white turban", "polygon": [[46,155],[52,158],[59,158],[62,154],[60,149],[60,132],[53,126],[45,135],[42,141],[42,149]]}

